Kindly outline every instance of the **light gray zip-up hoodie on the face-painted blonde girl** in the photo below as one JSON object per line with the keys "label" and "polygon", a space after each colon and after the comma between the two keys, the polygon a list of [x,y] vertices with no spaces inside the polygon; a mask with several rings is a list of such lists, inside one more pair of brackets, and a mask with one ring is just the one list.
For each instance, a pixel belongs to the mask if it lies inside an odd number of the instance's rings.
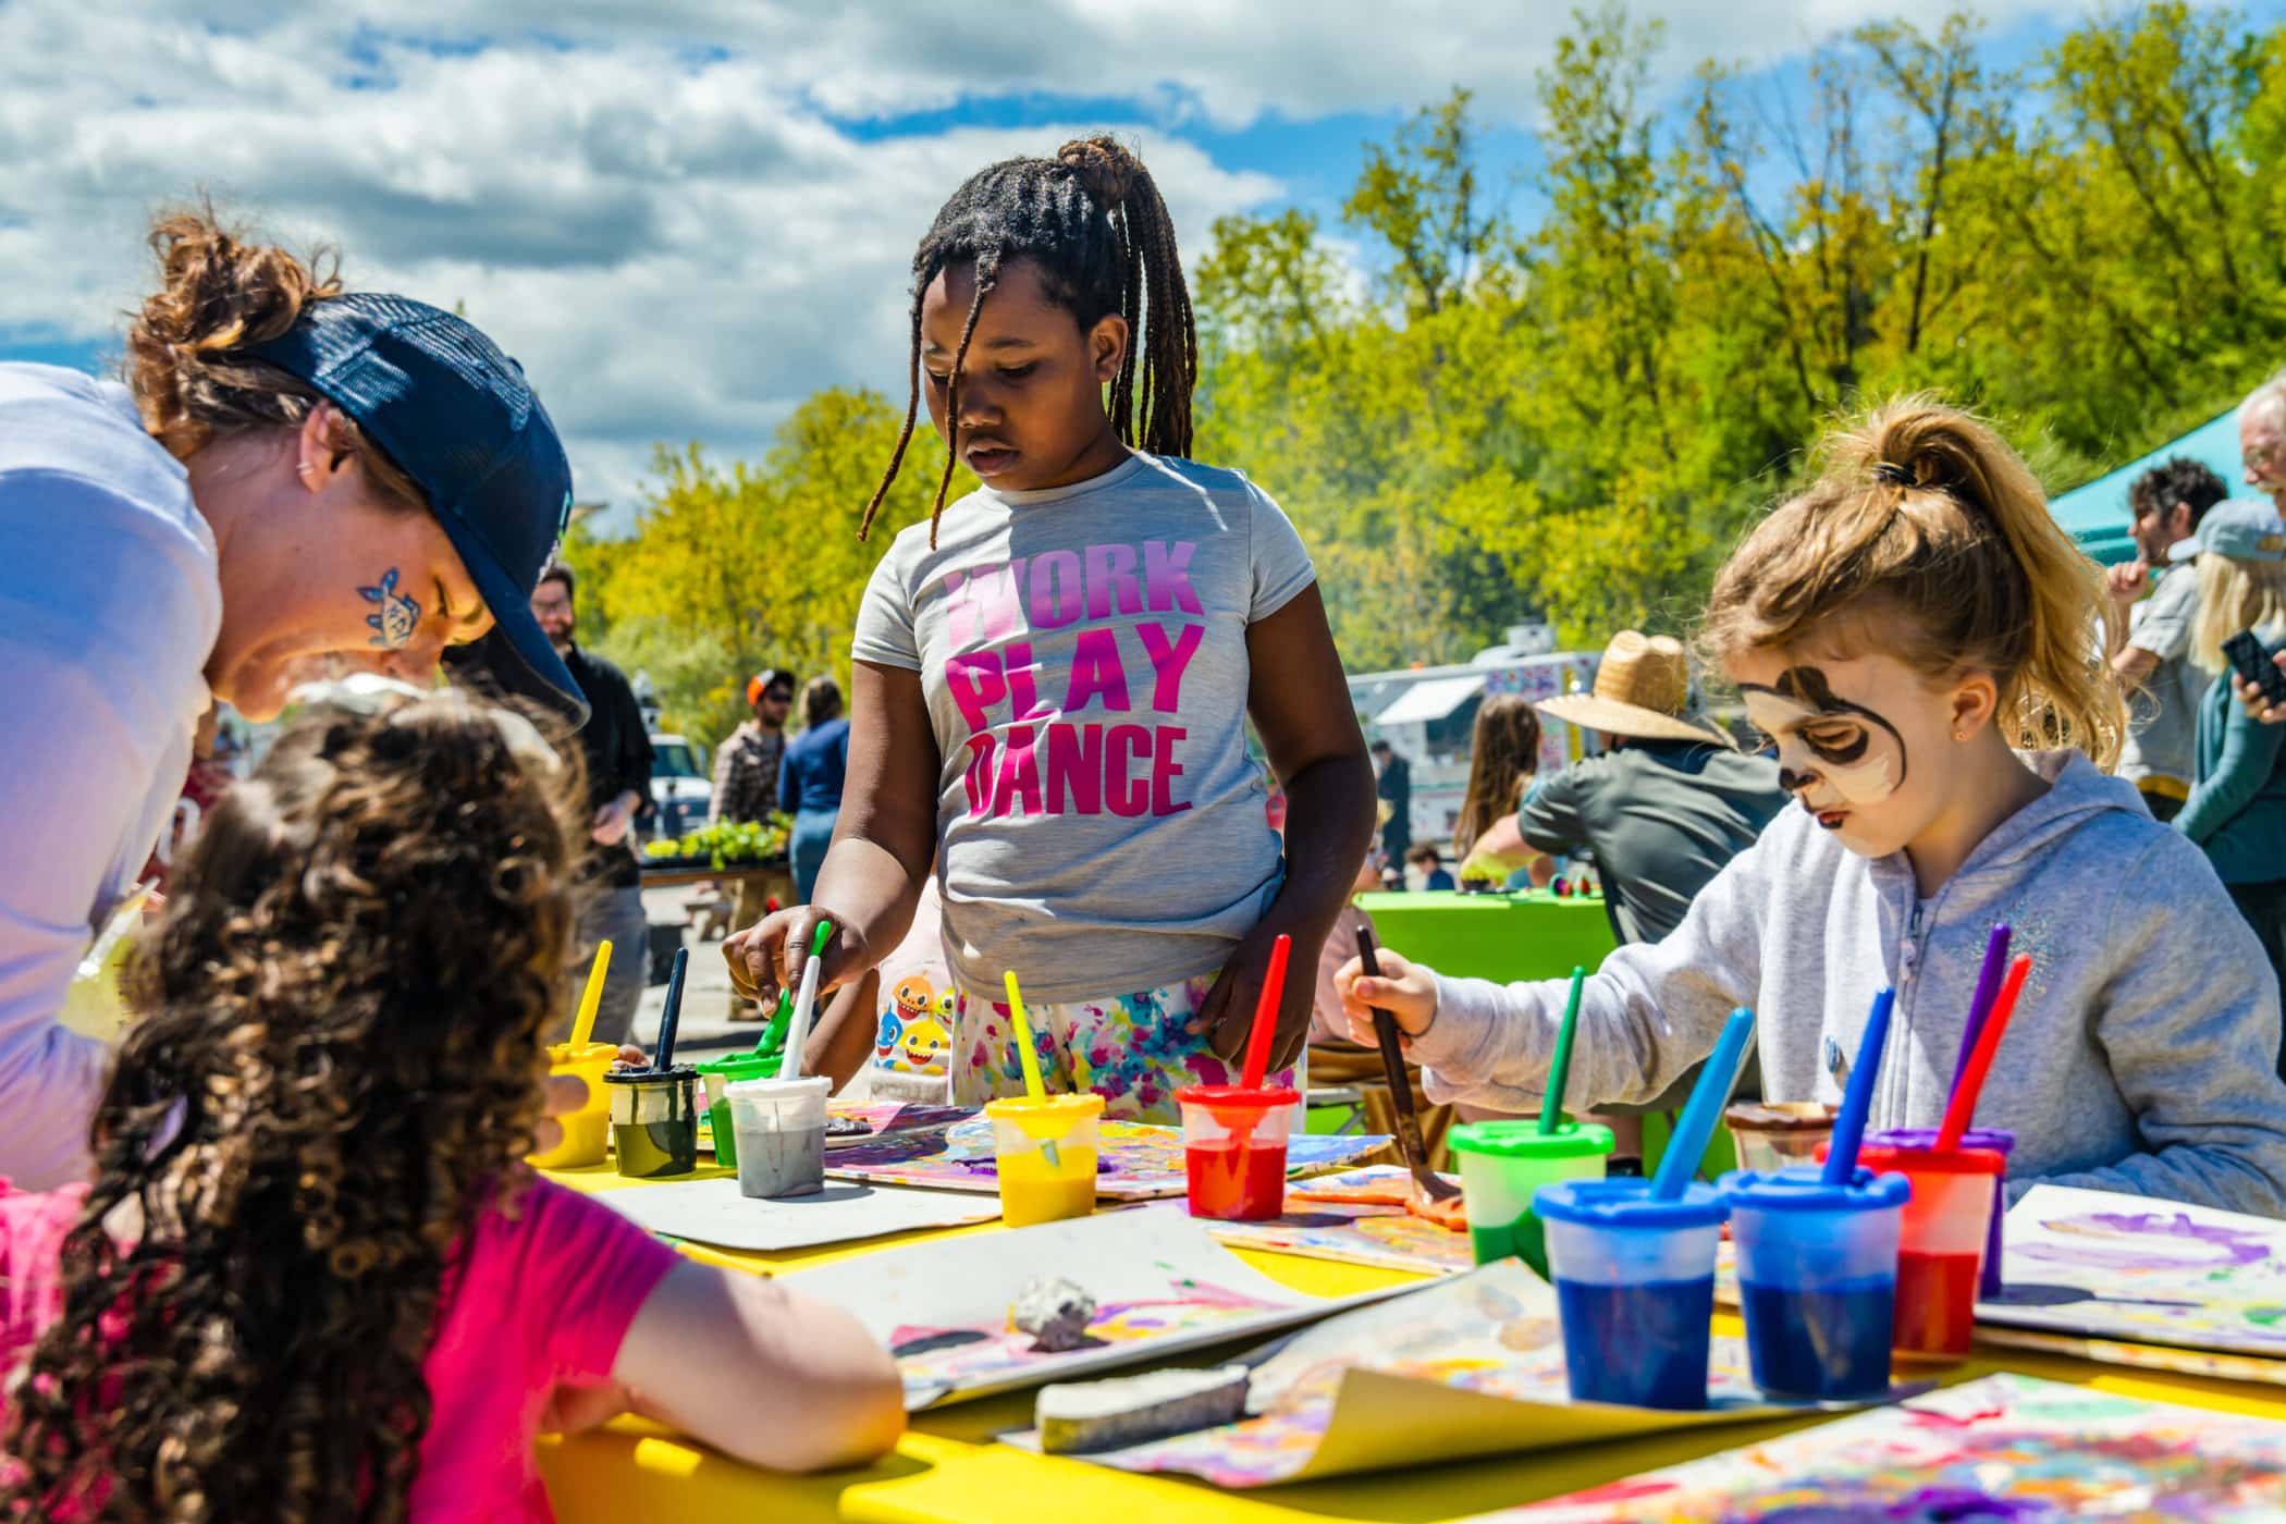
{"label": "light gray zip-up hoodie on the face-painted blonde girl", "polygon": [[[2286,1216],[2279,989],[2206,857],[2078,752],[2028,754],[2046,795],[1934,896],[1902,852],[1865,859],[1788,809],[1657,944],[1586,980],[1564,1099],[1648,1101],[1758,1012],[1763,1092],[1838,1101],[1875,992],[1897,989],[1870,1126],[1936,1126],[1996,921],[2032,976],[1977,1126],[2032,1181]],[[1404,951],[1404,948],[1399,948]],[[1438,1101],[1538,1108],[1566,985],[1438,978],[1413,1040]]]}

